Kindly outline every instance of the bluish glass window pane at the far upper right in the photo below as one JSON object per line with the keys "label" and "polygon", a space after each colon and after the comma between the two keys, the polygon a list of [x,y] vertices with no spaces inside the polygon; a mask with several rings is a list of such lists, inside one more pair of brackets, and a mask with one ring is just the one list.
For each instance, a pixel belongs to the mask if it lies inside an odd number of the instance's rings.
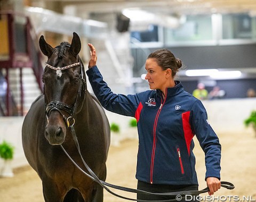
{"label": "bluish glass window pane at the far upper right", "polygon": [[252,19],[247,14],[226,14],[222,16],[223,39],[251,39]]}

